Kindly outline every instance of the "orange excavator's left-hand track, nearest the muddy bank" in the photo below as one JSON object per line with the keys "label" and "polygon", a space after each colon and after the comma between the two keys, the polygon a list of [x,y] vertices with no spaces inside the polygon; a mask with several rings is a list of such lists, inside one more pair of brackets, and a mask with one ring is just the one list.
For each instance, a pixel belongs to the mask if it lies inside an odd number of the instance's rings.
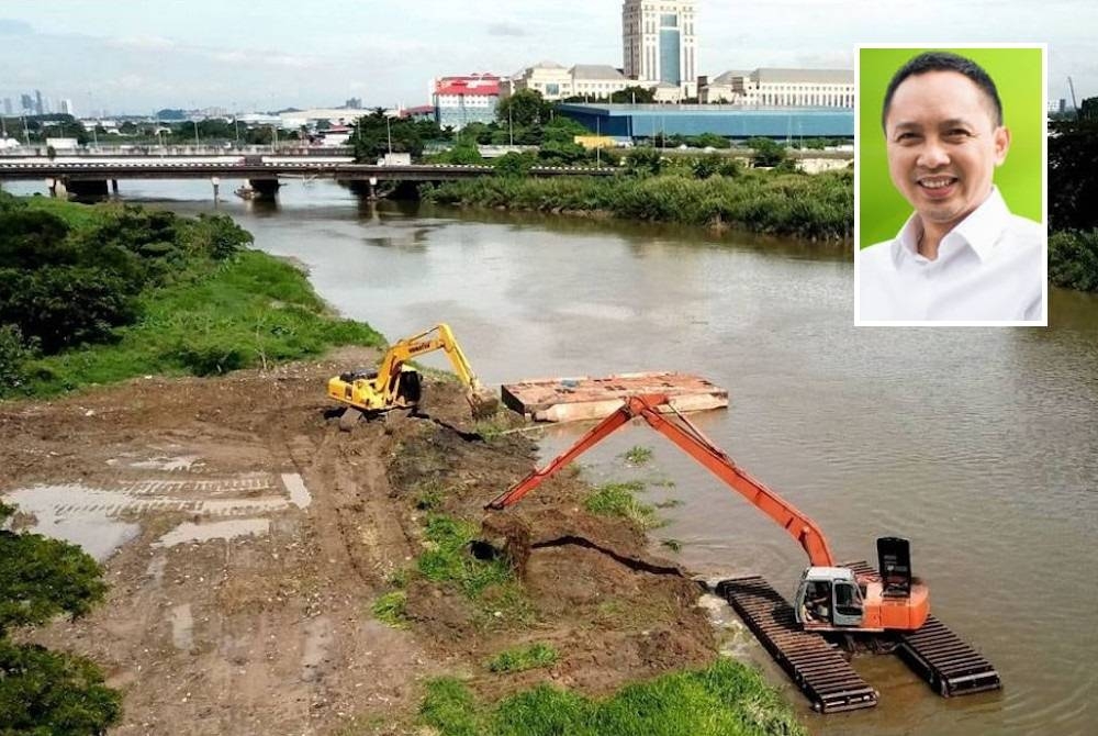
{"label": "orange excavator's left-hand track, nearest the muddy bank", "polygon": [[814,709],[836,713],[877,704],[877,691],[822,636],[800,628],[793,606],[761,577],[722,580],[717,594],[736,609]]}

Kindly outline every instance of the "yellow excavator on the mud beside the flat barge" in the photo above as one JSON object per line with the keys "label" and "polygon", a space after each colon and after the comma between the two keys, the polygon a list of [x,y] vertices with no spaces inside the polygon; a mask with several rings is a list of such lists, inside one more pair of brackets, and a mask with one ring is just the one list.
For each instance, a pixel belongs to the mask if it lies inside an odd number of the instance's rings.
{"label": "yellow excavator on the mud beside the flat barge", "polygon": [[328,380],[328,397],[347,406],[339,417],[339,428],[349,432],[363,415],[371,417],[394,409],[414,410],[419,404],[423,380],[407,361],[434,350],[444,350],[450,359],[453,371],[466,386],[473,416],[494,413],[498,401],[477,380],[449,325],[439,323],[390,346],[377,370],[349,371]]}

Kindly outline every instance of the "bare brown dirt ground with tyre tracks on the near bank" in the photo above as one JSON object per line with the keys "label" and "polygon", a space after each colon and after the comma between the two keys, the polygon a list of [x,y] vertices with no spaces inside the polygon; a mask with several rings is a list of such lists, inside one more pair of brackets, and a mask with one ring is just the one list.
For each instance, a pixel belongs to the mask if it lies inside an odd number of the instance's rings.
{"label": "bare brown dirt ground with tyre tracks on the near bank", "polygon": [[[124,692],[112,734],[418,733],[430,677],[492,698],[546,680],[603,694],[713,658],[697,586],[625,522],[583,513],[576,477],[482,511],[530,470],[534,445],[477,435],[460,387],[429,381],[426,419],[339,432],[324,381],[372,359],[347,349],[0,408],[0,493],[24,521],[105,549],[105,604],[34,639],[102,665]],[[425,490],[507,540],[525,617],[485,616],[413,575],[410,627],[373,618],[423,549]],[[551,643],[557,663],[484,666],[531,642]]]}

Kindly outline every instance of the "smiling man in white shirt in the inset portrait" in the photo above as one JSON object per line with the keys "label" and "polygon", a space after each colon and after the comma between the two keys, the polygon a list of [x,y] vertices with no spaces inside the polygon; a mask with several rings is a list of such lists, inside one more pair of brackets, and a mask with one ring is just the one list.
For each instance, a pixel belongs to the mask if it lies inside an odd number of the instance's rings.
{"label": "smiling man in white shirt in the inset portrait", "polygon": [[1011,214],[991,181],[1010,148],[991,78],[963,56],[920,54],[889,82],[882,125],[915,212],[860,252],[860,320],[1039,324],[1045,230]]}

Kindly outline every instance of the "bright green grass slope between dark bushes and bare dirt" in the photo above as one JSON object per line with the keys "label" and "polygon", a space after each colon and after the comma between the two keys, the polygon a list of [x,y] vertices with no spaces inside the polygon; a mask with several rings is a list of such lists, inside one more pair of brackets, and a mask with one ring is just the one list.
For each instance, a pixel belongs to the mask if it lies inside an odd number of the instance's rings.
{"label": "bright green grass slope between dark bushes and bare dirt", "polygon": [[30,392],[49,395],[144,375],[223,373],[381,345],[369,325],[328,316],[305,276],[248,250],[192,281],[142,297],[144,316],[117,342],[30,361]]}

